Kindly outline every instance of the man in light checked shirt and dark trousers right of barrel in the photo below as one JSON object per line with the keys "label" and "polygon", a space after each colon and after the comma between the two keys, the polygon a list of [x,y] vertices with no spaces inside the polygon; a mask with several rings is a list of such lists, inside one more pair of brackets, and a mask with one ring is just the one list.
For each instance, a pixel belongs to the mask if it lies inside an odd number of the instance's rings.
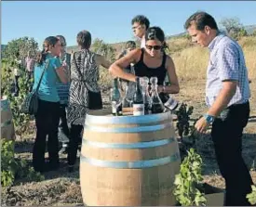
{"label": "man in light checked shirt and dark trousers right of barrel", "polygon": [[242,133],[249,119],[249,80],[241,47],[219,32],[215,19],[196,12],[186,20],[185,29],[198,45],[209,47],[206,103],[207,113],[195,123],[204,132],[212,123],[211,137],[222,176],[225,205],[249,205],[246,195],[253,184],[242,158]]}

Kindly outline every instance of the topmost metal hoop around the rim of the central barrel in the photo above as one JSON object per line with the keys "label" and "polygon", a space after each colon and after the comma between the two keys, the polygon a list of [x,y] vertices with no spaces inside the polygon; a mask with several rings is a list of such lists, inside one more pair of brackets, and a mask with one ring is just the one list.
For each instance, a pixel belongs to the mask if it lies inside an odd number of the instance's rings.
{"label": "topmost metal hoop around the rim of the central barrel", "polygon": [[111,109],[90,110],[87,114],[86,124],[124,124],[124,123],[157,123],[166,120],[172,121],[172,116],[169,111],[156,114],[147,114],[142,116],[113,116]]}

